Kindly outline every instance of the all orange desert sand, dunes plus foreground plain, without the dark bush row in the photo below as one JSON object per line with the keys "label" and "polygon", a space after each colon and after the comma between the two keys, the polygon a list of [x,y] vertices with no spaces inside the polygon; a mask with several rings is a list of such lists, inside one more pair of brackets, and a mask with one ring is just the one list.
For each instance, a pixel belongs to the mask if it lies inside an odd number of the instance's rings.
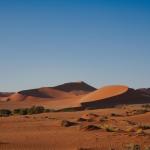
{"label": "all orange desert sand, dunes plus foreground plain, without the dark bush row", "polygon": [[145,90],[123,85],[96,89],[85,82],[73,82],[3,94],[0,109],[36,105],[84,110],[0,117],[0,149],[120,150],[128,144],[144,148],[150,145],[150,111],[143,111],[150,95]]}

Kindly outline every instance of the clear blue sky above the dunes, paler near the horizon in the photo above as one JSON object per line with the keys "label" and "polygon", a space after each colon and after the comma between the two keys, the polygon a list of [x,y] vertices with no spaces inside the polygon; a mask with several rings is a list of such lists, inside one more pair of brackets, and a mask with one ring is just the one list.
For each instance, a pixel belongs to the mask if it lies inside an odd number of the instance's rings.
{"label": "clear blue sky above the dunes, paler near the horizon", "polygon": [[1,0],[0,91],[79,80],[150,87],[150,1]]}

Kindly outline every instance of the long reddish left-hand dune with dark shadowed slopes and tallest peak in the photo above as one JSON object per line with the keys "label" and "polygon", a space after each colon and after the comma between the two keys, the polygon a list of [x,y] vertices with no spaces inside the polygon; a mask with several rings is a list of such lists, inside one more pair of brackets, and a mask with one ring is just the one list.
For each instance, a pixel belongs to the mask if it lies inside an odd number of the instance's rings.
{"label": "long reddish left-hand dune with dark shadowed slopes and tallest peak", "polygon": [[42,87],[14,93],[11,101],[68,99],[94,91],[95,88],[84,82],[65,83],[56,87]]}

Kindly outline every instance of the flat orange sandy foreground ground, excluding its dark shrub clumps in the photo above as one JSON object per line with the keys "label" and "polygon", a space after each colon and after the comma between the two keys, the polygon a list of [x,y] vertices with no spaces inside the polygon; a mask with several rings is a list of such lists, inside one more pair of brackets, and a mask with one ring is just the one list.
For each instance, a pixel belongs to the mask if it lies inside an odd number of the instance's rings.
{"label": "flat orange sandy foreground ground, excluding its dark shrub clumps", "polygon": [[[31,116],[10,116],[0,118],[0,150],[78,150],[80,148],[93,148],[109,150],[122,149],[123,145],[137,143],[142,146],[150,145],[149,130],[145,135],[127,132],[107,132],[105,130],[80,130],[81,125],[102,122],[83,122],[76,126],[62,127],[62,120],[77,122],[84,114],[94,113],[98,118],[107,116],[103,124],[116,126],[126,130],[132,125],[149,124],[150,113],[126,116],[126,112],[138,109],[137,106],[125,108],[97,109],[80,112],[44,113]],[[112,113],[118,116],[111,116]]]}

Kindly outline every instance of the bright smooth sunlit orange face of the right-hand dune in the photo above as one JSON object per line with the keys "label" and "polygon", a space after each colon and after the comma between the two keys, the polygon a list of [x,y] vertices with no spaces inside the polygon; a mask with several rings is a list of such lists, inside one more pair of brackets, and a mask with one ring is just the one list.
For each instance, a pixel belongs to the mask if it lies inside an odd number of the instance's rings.
{"label": "bright smooth sunlit orange face of the right-hand dune", "polygon": [[96,90],[95,92],[86,95],[81,99],[81,102],[106,99],[113,96],[121,95],[123,93],[126,93],[127,91],[128,91],[127,86],[122,85],[105,86],[100,88],[99,90]]}

